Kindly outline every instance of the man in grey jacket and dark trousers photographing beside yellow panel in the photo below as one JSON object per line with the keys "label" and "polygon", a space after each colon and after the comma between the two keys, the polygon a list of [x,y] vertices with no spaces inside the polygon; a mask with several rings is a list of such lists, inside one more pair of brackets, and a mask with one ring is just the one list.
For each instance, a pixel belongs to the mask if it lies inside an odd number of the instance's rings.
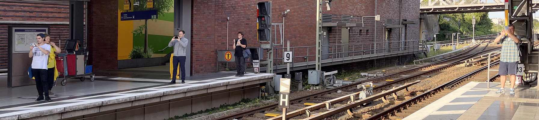
{"label": "man in grey jacket and dark trousers photographing beside yellow panel", "polygon": [[174,68],[174,70],[172,70],[172,81],[170,81],[169,84],[176,83],[178,62],[179,67],[182,70],[182,83],[185,83],[185,47],[187,47],[189,40],[183,36],[185,36],[185,31],[179,31],[178,36],[172,37],[172,40],[169,42],[169,47],[174,46],[174,57],[172,57],[172,68]]}

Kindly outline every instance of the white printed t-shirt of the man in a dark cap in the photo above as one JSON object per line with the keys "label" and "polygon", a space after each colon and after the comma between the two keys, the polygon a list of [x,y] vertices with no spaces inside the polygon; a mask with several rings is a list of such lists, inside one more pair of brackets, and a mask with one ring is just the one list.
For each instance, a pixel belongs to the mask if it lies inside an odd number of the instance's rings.
{"label": "white printed t-shirt of the man in a dark cap", "polygon": [[[45,44],[41,45],[41,48],[47,51],[51,51],[51,45]],[[32,69],[47,69],[47,64],[49,63],[49,54],[45,54],[39,50],[39,47],[34,47],[32,49]]]}

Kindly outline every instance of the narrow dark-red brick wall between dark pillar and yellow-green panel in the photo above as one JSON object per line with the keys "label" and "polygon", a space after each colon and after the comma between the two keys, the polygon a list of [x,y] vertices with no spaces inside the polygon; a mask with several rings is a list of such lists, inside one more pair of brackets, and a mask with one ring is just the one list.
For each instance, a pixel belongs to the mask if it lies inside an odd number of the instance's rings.
{"label": "narrow dark-red brick wall between dark pillar and yellow-green panel", "polygon": [[118,1],[89,2],[88,49],[94,70],[118,69]]}

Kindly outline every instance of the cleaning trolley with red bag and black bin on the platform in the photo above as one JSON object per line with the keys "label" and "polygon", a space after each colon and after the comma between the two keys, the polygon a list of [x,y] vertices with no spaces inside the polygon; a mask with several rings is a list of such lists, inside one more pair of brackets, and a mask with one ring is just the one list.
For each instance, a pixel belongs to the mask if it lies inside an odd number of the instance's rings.
{"label": "cleaning trolley with red bag and black bin on the platform", "polygon": [[[56,55],[56,68],[60,75],[57,80],[63,77],[61,84],[66,85],[66,80],[74,77],[80,77],[80,81],[84,81],[86,76],[90,76],[90,81],[94,81],[95,74],[92,73],[92,66],[86,66],[88,60],[88,52],[82,54],[75,54],[79,47],[78,40],[67,40],[64,50],[67,53],[60,53]],[[73,52],[73,53],[70,53]],[[81,68],[82,67],[82,68]],[[56,81],[54,81],[56,84]]]}

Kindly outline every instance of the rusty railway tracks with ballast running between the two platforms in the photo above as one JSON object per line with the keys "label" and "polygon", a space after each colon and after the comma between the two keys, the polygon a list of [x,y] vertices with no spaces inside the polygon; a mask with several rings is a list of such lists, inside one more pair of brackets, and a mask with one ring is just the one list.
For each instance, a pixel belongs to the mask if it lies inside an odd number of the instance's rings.
{"label": "rusty railway tracks with ballast running between the two platforms", "polygon": [[[485,40],[485,43],[492,42],[493,38],[488,38]],[[402,101],[400,99],[406,99],[411,97],[406,96],[399,96],[396,93],[402,94],[402,95],[414,95],[414,91],[410,91],[407,89],[407,87],[412,86],[413,84],[419,83],[420,79],[425,79],[430,77],[428,74],[439,72],[440,70],[444,70],[447,68],[451,68],[453,66],[457,66],[459,64],[462,64],[462,60],[470,59],[474,57],[475,55],[481,54],[481,53],[488,53],[495,51],[496,49],[499,49],[499,47],[494,47],[490,49],[486,49],[488,47],[488,44],[483,44],[485,46],[482,46],[480,49],[476,49],[481,46],[481,44],[476,43],[472,45],[471,47],[464,50],[465,52],[462,52],[458,55],[455,55],[454,57],[450,57],[444,60],[436,61],[429,63],[424,66],[416,67],[410,70],[405,70],[403,72],[393,73],[390,75],[385,75],[382,77],[377,77],[375,79],[370,79],[367,81],[360,81],[358,83],[349,84],[347,86],[341,86],[334,89],[322,91],[320,93],[315,93],[308,96],[303,96],[299,98],[295,98],[290,101],[290,109],[292,109],[291,112],[287,113],[287,118],[292,119],[317,119],[317,118],[326,118],[329,116],[333,116],[338,113],[346,113],[343,110],[344,108],[341,108],[343,106],[345,107],[352,107],[356,108],[357,104],[365,104],[373,102],[372,100],[379,100],[382,98],[384,102],[389,103],[400,103]],[[367,83],[363,83],[367,82]],[[358,85],[363,85],[363,89],[358,89]],[[406,86],[406,87],[403,87]],[[365,93],[365,89],[369,88],[372,90],[371,93]],[[363,93],[362,93],[363,92]],[[361,95],[360,95],[361,94]],[[368,98],[365,96],[365,94],[369,94],[370,99],[361,99],[361,98]],[[374,95],[372,95],[374,94]],[[392,97],[385,97],[386,95],[394,94]],[[357,98],[354,98],[357,97]],[[395,99],[397,98],[397,99]],[[357,99],[360,99],[361,101],[356,101]],[[371,100],[372,99],[372,100]],[[353,101],[346,101],[346,100],[353,100]],[[370,100],[370,101],[367,101]],[[347,104],[353,104],[353,105],[347,105]],[[355,105],[355,106],[354,106]],[[247,110],[243,112],[239,112],[237,114],[233,114],[230,116],[225,116],[217,119],[281,119],[281,115],[279,113],[281,112],[280,109],[275,109],[277,107],[277,104],[267,105],[265,107],[260,107],[253,110]],[[368,108],[368,107],[363,107]],[[350,116],[362,116],[364,114],[359,112],[354,112],[350,110],[349,108],[346,108],[345,111],[348,111],[348,114]],[[327,114],[326,112],[331,112],[331,114]],[[268,116],[274,116],[272,118],[268,118]],[[315,116],[315,117],[312,117]],[[369,116],[365,114],[365,116]],[[362,116],[362,117],[365,117]]]}

